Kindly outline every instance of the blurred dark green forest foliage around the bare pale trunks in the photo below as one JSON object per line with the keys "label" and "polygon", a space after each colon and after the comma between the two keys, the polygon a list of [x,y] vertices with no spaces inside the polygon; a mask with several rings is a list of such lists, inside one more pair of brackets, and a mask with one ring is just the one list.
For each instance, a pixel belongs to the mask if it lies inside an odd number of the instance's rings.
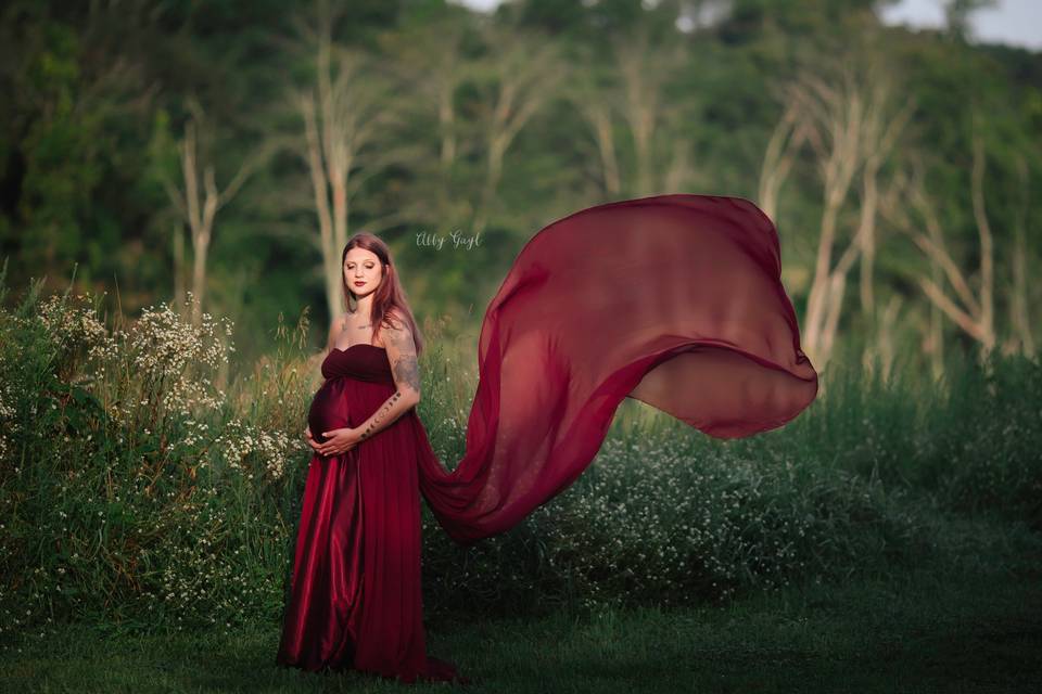
{"label": "blurred dark green forest foliage around the bare pale trunks", "polygon": [[[922,162],[961,268],[977,261],[968,168],[975,128],[983,138],[1000,283],[996,316],[1008,316],[1002,284],[1011,275],[1012,230],[1022,219],[1030,232],[1042,200],[1039,54],[885,27],[876,11],[886,3],[871,0],[730,4],[711,22],[699,14],[692,30],[683,33],[679,15],[714,3],[525,0],[504,4],[487,21],[439,0],[330,3],[338,10],[334,43],[364,52],[372,67],[358,79],[386,90],[374,105],[383,120],[355,164],[395,159],[353,171],[351,230],[374,228],[389,241],[409,287],[416,287],[418,314],[459,318],[476,305],[472,329],[483,300],[538,228],[587,205],[637,194],[634,104],[660,107],[651,114],[650,166],[663,178],[657,188],[677,164],[672,185],[681,191],[755,198],[767,142],[787,105],[780,86],[803,69],[827,78],[834,67],[851,66],[893,78],[895,100],[914,102],[880,190]],[[949,3],[953,26],[979,4]],[[84,290],[100,293],[119,283],[122,305],[107,310],[132,316],[170,296],[175,272],[186,272],[175,267],[173,243],[185,224],[160,174],[180,180],[177,140],[188,104],[195,102],[219,133],[204,147],[218,185],[251,153],[277,152],[218,215],[207,309],[236,319],[237,342],[250,358],[268,351],[267,329],[279,313],[308,306],[313,317],[323,316],[315,197],[293,100],[316,87],[308,31],[320,24],[320,7],[271,0],[9,3],[0,16],[0,82],[11,94],[0,103],[0,254],[13,261],[14,283],[45,277],[53,288],[78,264]],[[497,90],[511,73],[497,63],[504,47],[486,24],[503,29],[499,36],[537,31],[538,43],[560,49],[548,72],[562,77],[505,153],[503,180],[491,201],[483,200],[491,118]],[[662,80],[661,93],[647,85],[627,91],[614,48],[639,36],[650,39],[649,60],[659,55],[644,72],[651,82]],[[609,118],[618,191],[607,188],[603,143],[583,113],[594,104]],[[525,107],[522,99],[507,112]],[[803,151],[779,194],[786,277],[800,278],[791,287],[797,306],[814,264],[821,178],[819,162]],[[841,210],[839,243],[852,236],[857,194],[855,181]],[[436,252],[417,243],[421,233],[470,235],[486,203],[488,228],[476,250]],[[927,259],[886,223],[877,234],[879,293],[889,290],[907,299],[905,306],[927,305],[915,282],[929,271]],[[1042,249],[1038,234],[1026,237],[1031,267]],[[190,246],[183,260],[189,265]],[[1039,290],[1030,286],[1028,293],[1033,310]],[[1039,317],[1032,318],[1037,324]],[[844,317],[839,339],[868,339],[873,320]],[[1005,319],[999,323],[1005,332]],[[918,329],[905,324],[899,336],[908,349]],[[313,339],[326,332],[321,324],[312,330]],[[955,329],[949,324],[945,331]]]}

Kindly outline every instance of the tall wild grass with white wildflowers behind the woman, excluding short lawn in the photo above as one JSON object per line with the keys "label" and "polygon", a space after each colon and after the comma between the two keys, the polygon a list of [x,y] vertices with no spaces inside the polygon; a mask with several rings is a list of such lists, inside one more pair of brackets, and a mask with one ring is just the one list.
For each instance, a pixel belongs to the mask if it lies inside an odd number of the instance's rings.
{"label": "tall wild grass with white wildflowers behind the woman, excluding short lawn", "polygon": [[[0,306],[8,306],[0,277]],[[307,316],[255,364],[187,307],[106,320],[29,287],[0,310],[0,644],[65,620],[164,629],[282,614],[319,385]],[[111,324],[110,324],[111,323]],[[437,338],[420,417],[463,454],[472,348]],[[238,369],[229,369],[229,363]],[[227,374],[227,383],[225,375]],[[456,547],[424,507],[424,604],[484,614],[727,601],[966,548],[953,520],[1042,529],[1042,370],[952,359],[940,383],[830,370],[780,430],[720,441],[635,401],[589,470],[517,528]]]}

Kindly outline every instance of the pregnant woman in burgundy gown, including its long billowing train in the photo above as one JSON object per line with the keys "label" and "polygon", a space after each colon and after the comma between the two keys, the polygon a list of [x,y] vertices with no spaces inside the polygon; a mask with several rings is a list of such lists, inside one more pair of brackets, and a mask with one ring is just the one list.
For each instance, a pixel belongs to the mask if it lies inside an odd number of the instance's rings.
{"label": "pregnant woman in burgundy gown, including its long billowing train", "polygon": [[466,453],[449,471],[416,414],[422,339],[396,267],[382,241],[354,236],[348,310],[308,416],[277,663],[467,682],[427,654],[420,493],[471,544],[571,485],[623,398],[720,438],[782,426],[813,401],[817,374],[780,270],[773,223],[736,197],[609,203],[544,228],[485,312]]}

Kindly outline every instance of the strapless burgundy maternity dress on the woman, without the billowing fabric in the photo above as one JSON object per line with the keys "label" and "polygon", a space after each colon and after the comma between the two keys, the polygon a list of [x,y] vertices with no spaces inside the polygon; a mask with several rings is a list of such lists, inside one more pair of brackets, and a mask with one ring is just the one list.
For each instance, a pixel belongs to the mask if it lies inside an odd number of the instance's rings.
{"label": "strapless burgundy maternity dress on the woman, without the billowing fabric", "polygon": [[[395,391],[381,347],[333,348],[308,425],[358,426]],[[429,658],[420,583],[420,493],[409,410],[346,453],[312,458],[297,530],[290,603],[276,661],[306,670],[356,669],[412,682],[448,680]]]}

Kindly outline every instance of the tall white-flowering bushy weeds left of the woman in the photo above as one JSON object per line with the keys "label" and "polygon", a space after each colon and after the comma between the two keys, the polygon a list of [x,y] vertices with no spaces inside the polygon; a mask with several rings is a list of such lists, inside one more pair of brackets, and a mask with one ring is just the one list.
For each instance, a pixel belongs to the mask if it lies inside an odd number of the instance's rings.
{"label": "tall white-flowering bushy weeds left of the woman", "polygon": [[[251,562],[288,540],[271,494],[300,481],[285,476],[306,455],[304,398],[283,398],[281,420],[237,410],[245,398],[224,385],[231,324],[203,313],[192,325],[191,300],[111,330],[86,295],[34,288],[0,311],[0,642],[63,618],[183,628],[280,605],[281,587]],[[303,374],[301,361],[240,378],[240,395],[306,393],[302,378],[268,377]]]}

